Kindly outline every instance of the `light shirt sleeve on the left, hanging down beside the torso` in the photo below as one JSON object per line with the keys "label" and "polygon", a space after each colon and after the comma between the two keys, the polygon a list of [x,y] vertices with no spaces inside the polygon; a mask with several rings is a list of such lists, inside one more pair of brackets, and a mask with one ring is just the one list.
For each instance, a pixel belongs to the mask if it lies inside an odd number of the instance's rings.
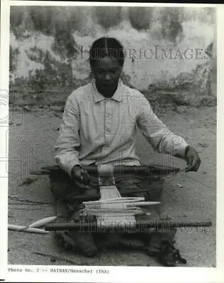
{"label": "light shirt sleeve on the left, hanging down beside the torso", "polygon": [[72,168],[79,164],[79,127],[79,105],[76,98],[71,95],[65,104],[62,125],[55,144],[55,161],[70,176]]}

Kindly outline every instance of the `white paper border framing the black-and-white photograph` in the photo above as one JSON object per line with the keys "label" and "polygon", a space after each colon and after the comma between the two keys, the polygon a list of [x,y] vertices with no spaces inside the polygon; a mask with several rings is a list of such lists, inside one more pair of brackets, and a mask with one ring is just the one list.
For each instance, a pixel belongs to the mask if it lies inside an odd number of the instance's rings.
{"label": "white paper border framing the black-and-white photograph", "polygon": [[[223,30],[224,30],[224,6],[214,4],[144,4],[144,3],[101,3],[101,2],[58,2],[58,1],[1,1],[1,84],[0,89],[9,89],[9,7],[10,6],[182,6],[182,7],[216,7],[217,8],[217,62],[218,62],[218,149],[217,149],[217,267],[105,267],[109,270],[109,275],[92,274],[67,274],[67,273],[8,273],[7,270],[7,178],[0,178],[0,215],[1,215],[1,245],[0,245],[0,279],[6,282],[224,282],[224,270],[222,255],[224,254],[224,233],[221,217],[224,215],[222,190],[223,180],[223,137],[224,137],[224,115],[223,114]],[[5,108],[8,114],[8,107]],[[0,127],[1,137],[5,137],[6,127]],[[4,139],[0,140],[0,146],[4,144]],[[18,265],[13,267],[19,267]],[[26,267],[22,265],[22,267]],[[27,266],[28,267],[28,266]],[[32,267],[35,267],[32,265]],[[40,266],[38,266],[40,267]],[[47,267],[48,268],[48,267]],[[49,268],[53,268],[50,266]],[[55,266],[59,268],[59,266]],[[65,266],[68,268],[68,266]],[[75,268],[75,267],[74,267]],[[80,267],[77,267],[80,268]],[[84,268],[84,267],[83,267]],[[86,269],[97,270],[97,267],[86,267]],[[100,269],[102,267],[99,267]]]}

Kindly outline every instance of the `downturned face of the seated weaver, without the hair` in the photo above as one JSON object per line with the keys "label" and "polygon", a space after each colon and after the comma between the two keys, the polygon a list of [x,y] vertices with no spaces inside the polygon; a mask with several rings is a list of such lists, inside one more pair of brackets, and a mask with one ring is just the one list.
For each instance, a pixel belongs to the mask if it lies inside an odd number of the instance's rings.
{"label": "downturned face of the seated weaver, without the hair", "polygon": [[96,61],[92,71],[100,91],[110,93],[118,85],[122,67],[118,59],[104,57]]}

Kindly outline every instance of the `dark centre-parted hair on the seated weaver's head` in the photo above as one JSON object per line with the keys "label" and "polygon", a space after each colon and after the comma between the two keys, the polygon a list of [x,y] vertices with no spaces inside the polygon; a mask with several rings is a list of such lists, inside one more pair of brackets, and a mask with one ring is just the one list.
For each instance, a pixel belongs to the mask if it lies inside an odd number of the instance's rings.
{"label": "dark centre-parted hair on the seated weaver's head", "polygon": [[113,37],[100,37],[98,40],[94,41],[91,49],[89,50],[89,64],[90,67],[94,67],[96,60],[110,57],[118,59],[118,62],[121,67],[125,60],[125,54],[123,46],[121,43]]}

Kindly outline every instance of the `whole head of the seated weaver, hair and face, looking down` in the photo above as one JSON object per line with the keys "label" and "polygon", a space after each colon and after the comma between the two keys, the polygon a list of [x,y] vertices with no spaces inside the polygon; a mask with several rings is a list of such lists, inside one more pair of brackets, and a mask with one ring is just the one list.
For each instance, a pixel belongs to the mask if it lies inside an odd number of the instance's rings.
{"label": "whole head of the seated weaver, hair and face, looking down", "polygon": [[123,46],[115,38],[101,37],[91,46],[89,63],[103,95],[111,96],[116,90],[124,59]]}

